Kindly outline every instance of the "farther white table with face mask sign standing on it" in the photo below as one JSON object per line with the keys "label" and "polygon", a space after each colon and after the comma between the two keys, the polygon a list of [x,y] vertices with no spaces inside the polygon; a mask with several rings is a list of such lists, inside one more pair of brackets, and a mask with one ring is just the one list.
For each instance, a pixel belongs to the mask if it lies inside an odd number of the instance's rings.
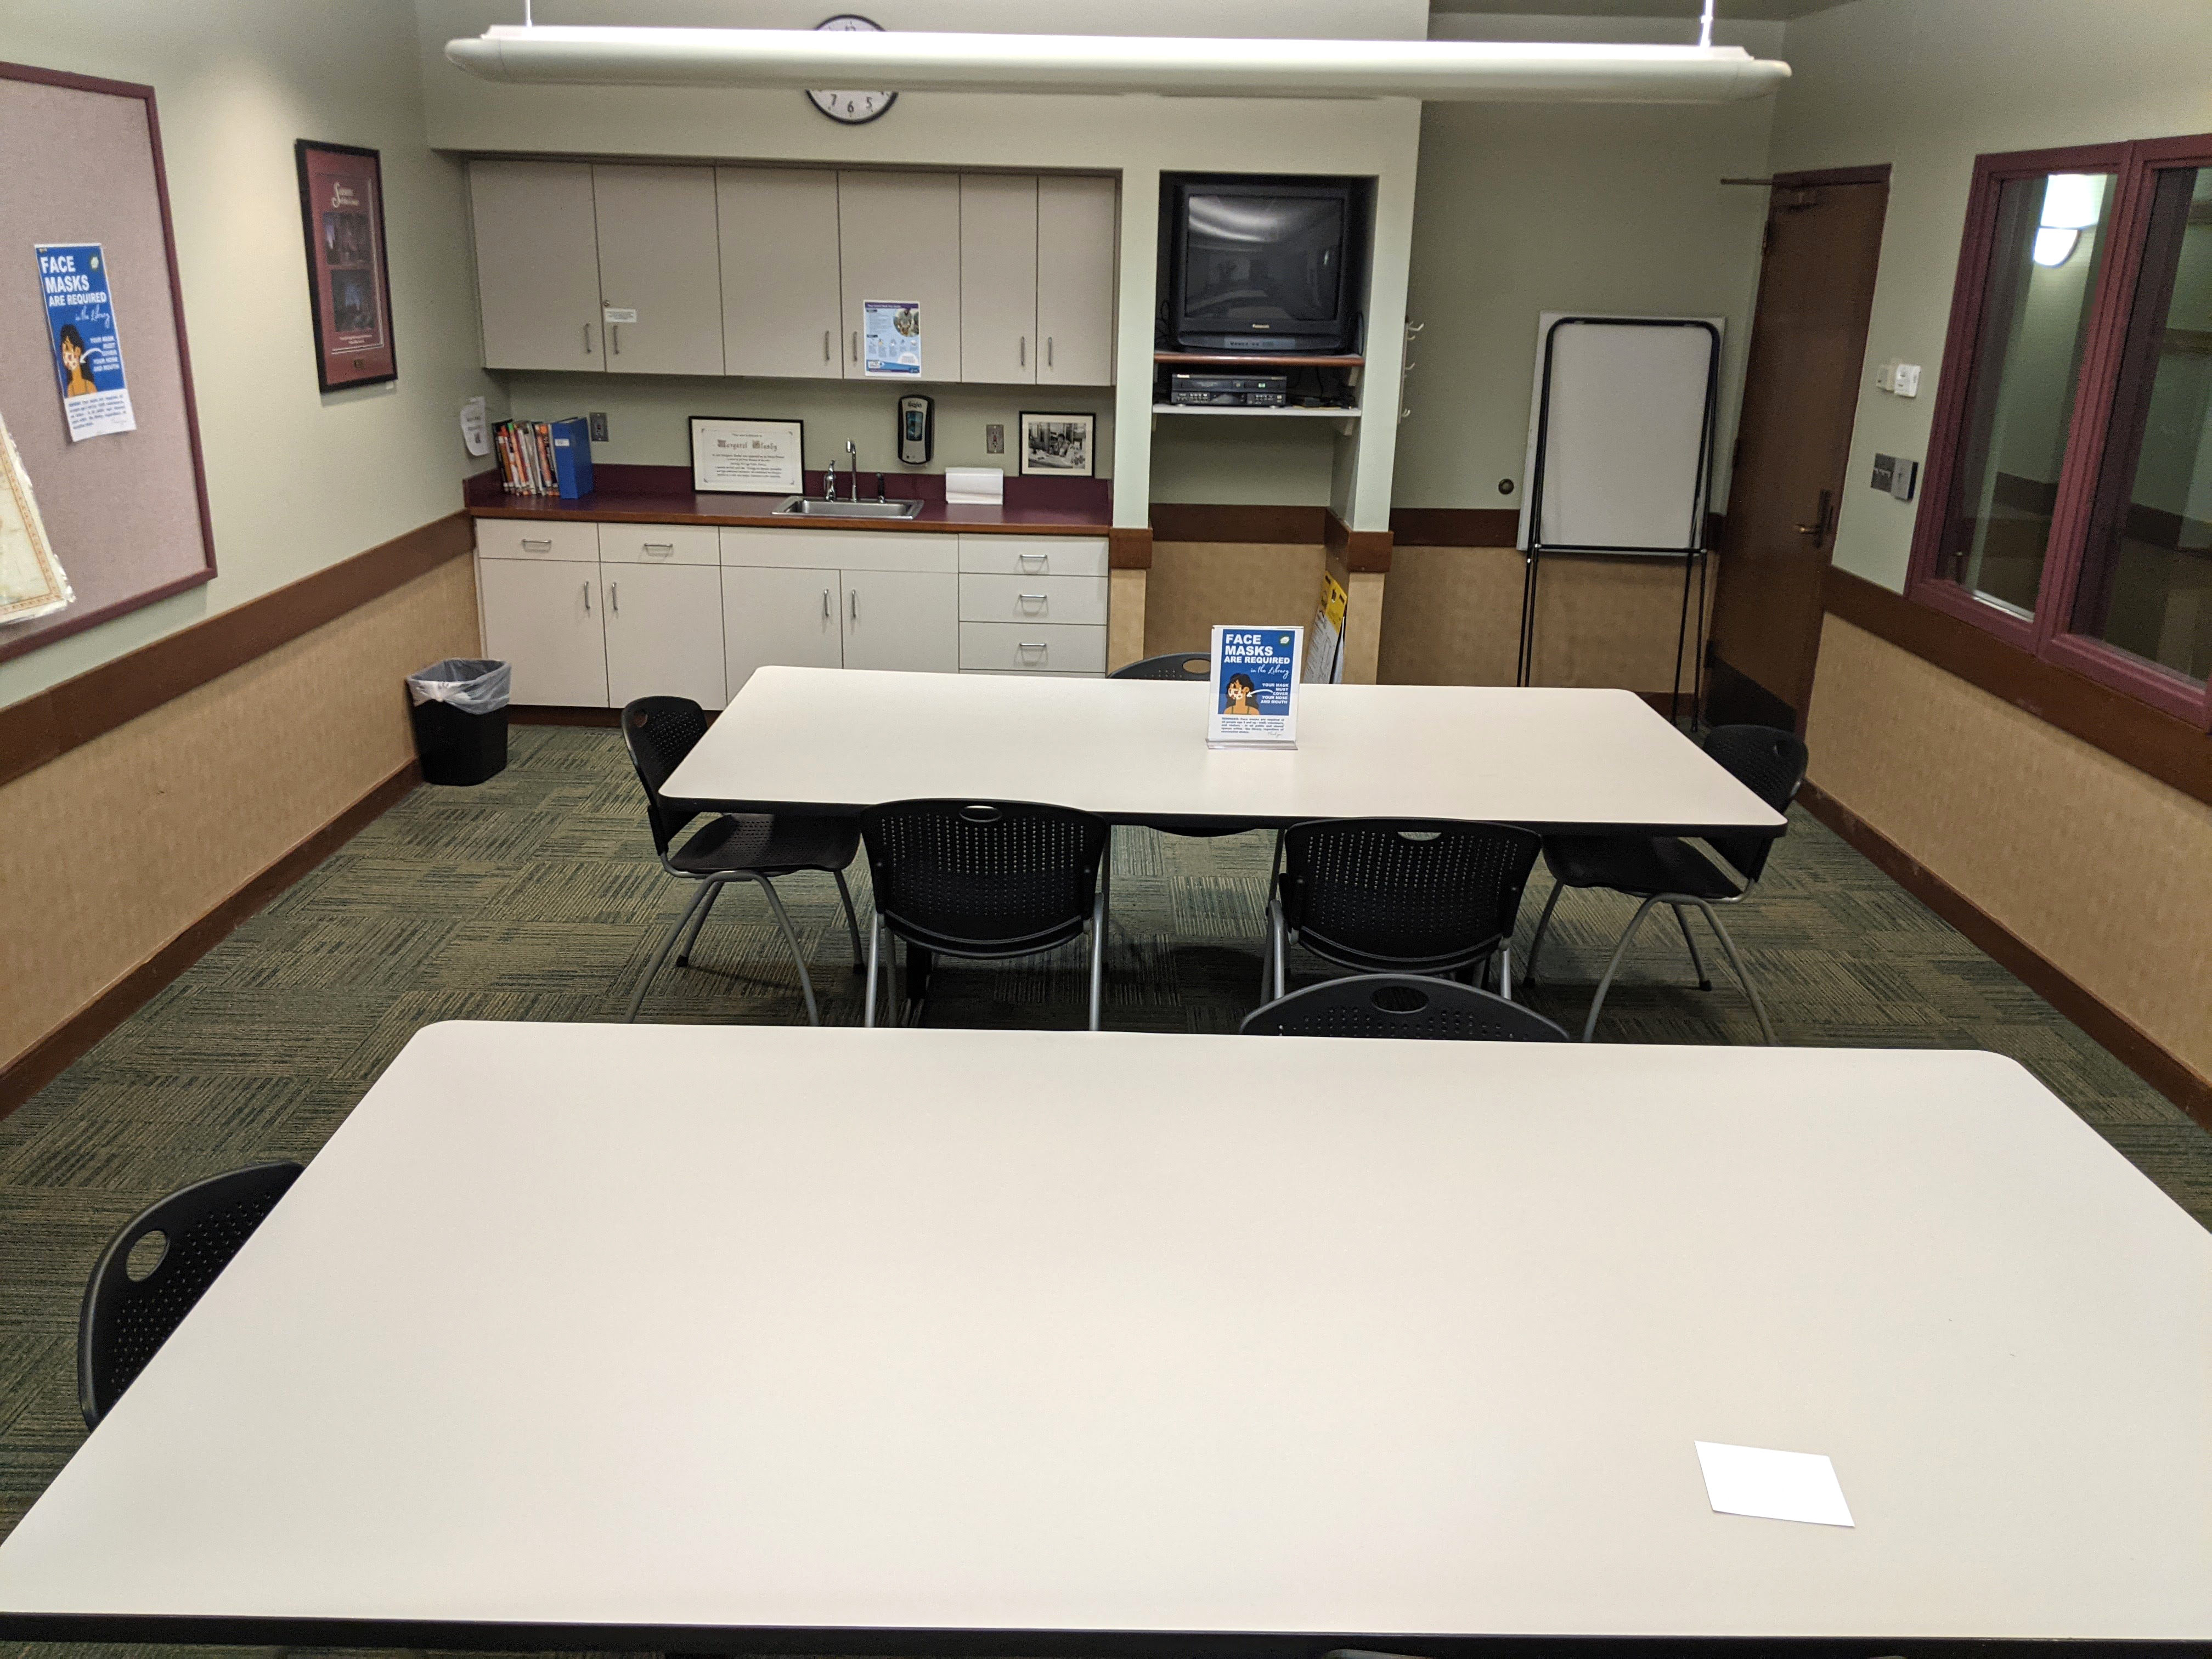
{"label": "farther white table with face mask sign standing on it", "polygon": [[1469,818],[1776,836],[1635,692],[1305,686],[1298,748],[1206,748],[1203,684],[759,668],[666,794],[761,810],[1046,801],[1113,823]]}

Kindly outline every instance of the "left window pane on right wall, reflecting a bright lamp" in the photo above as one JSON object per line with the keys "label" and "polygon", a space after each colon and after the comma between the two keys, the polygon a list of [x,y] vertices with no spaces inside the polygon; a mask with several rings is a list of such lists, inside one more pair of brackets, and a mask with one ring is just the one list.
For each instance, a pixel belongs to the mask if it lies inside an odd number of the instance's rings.
{"label": "left window pane on right wall, reflecting a bright lamp", "polygon": [[2046,173],[1997,188],[1960,467],[1936,571],[2033,615],[2066,427],[2104,263],[2112,177]]}

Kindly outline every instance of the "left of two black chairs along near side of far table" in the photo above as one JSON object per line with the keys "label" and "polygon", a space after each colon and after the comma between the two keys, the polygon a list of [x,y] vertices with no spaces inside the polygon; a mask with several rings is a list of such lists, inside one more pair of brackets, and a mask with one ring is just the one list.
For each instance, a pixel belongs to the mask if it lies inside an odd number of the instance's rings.
{"label": "left of two black chairs along near side of far table", "polygon": [[876,1024],[883,929],[907,945],[907,1022],[918,1022],[933,956],[1035,956],[1088,927],[1091,1029],[1099,1029],[1104,818],[1026,801],[887,801],[860,814],[860,838],[876,887],[867,1024]]}

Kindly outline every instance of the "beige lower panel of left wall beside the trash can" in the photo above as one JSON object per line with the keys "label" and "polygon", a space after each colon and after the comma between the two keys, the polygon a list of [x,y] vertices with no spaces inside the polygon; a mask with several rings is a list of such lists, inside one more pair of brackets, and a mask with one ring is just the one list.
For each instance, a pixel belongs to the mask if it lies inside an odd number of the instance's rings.
{"label": "beige lower panel of left wall beside the trash can", "polygon": [[447,560],[0,787],[0,1066],[407,765],[400,677],[478,648]]}

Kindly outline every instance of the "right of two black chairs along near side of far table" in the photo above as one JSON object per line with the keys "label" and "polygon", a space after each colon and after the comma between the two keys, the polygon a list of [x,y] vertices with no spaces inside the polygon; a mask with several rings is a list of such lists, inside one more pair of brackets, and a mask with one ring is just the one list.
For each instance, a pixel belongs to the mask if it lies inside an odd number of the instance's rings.
{"label": "right of two black chairs along near side of far table", "polygon": [[[1513,998],[1513,918],[1544,841],[1506,823],[1334,818],[1283,832],[1267,958],[1283,995],[1290,940],[1360,973],[1498,967]],[[1261,980],[1267,995],[1270,980]]]}

